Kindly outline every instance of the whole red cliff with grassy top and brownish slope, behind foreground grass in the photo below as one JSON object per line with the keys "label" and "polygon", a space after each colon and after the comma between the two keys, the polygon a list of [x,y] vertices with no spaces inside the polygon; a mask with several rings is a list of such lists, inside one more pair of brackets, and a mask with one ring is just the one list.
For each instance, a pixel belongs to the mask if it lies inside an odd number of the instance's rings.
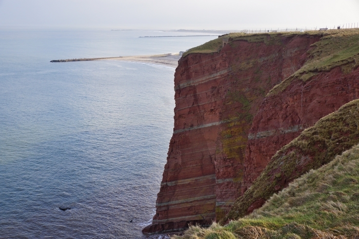
{"label": "whole red cliff with grassy top and brownish slope, behind foreground grass", "polygon": [[156,206],[145,232],[239,220],[358,144],[359,102],[340,108],[358,98],[358,46],[359,30],[353,29],[233,33],[190,49],[176,69],[180,130],[171,140],[163,182],[190,182],[203,165],[211,166],[205,171],[211,181],[161,187],[157,200],[164,206]]}

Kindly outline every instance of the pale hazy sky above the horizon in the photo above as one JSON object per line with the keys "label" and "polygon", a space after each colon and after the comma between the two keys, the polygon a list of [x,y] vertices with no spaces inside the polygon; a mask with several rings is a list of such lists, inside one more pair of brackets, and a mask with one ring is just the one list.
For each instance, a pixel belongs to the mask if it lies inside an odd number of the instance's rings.
{"label": "pale hazy sky above the horizon", "polygon": [[248,29],[359,22],[359,0],[0,0],[1,28]]}

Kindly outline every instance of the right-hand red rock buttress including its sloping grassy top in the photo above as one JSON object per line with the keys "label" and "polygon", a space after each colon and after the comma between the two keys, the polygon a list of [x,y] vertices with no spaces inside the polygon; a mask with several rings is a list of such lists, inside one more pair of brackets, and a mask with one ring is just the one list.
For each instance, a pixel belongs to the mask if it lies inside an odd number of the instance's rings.
{"label": "right-hand red rock buttress including its sloping grassy top", "polygon": [[323,37],[307,52],[304,66],[269,92],[249,131],[244,190],[277,150],[322,117],[359,98],[358,44],[357,31]]}

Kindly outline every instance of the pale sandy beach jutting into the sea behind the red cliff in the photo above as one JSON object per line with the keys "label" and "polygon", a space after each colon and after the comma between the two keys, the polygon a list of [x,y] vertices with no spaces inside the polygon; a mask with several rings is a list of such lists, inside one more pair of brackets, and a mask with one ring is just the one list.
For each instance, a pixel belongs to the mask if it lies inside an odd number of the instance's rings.
{"label": "pale sandy beach jutting into the sea behind the red cliff", "polygon": [[[144,56],[124,56],[118,58],[111,58],[111,60],[123,60],[133,62],[146,62],[152,64],[162,64],[169,67],[176,68],[178,66],[178,60],[181,58],[178,53],[168,53],[161,55],[144,55]],[[106,60],[106,59],[103,59]]]}

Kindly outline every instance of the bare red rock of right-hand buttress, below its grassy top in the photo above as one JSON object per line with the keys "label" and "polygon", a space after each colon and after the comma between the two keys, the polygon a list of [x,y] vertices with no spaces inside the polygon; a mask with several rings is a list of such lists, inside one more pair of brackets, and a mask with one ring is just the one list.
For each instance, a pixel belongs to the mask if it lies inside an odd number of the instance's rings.
{"label": "bare red rock of right-hand buttress, below its grassy top", "polygon": [[307,81],[294,79],[284,91],[264,99],[248,135],[244,191],[277,150],[319,119],[359,98],[359,68],[350,72],[342,68],[319,72]]}

